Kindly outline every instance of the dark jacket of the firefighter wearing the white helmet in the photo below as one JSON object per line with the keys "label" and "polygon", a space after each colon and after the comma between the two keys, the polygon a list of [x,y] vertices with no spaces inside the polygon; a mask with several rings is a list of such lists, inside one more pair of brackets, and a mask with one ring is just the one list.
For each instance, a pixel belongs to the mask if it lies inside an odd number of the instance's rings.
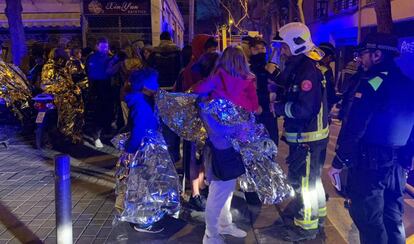
{"label": "dark jacket of the firefighter wearing the white helmet", "polygon": [[289,143],[325,140],[329,134],[326,89],[316,62],[303,54],[293,56],[279,77],[286,94],[275,112],[285,117],[284,139]]}

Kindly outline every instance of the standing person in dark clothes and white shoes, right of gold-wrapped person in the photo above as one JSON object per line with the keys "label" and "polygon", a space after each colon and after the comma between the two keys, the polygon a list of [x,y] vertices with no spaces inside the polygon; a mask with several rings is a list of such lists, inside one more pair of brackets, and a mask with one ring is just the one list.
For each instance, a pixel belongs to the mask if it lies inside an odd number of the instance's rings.
{"label": "standing person in dark clothes and white shoes, right of gold-wrapped person", "polygon": [[102,148],[101,142],[102,130],[111,126],[113,102],[111,91],[111,76],[107,73],[108,64],[111,60],[109,56],[109,43],[106,38],[98,40],[97,50],[92,54],[86,64],[88,79],[90,82],[90,91],[96,100],[94,103],[94,128],[93,140],[97,148]]}

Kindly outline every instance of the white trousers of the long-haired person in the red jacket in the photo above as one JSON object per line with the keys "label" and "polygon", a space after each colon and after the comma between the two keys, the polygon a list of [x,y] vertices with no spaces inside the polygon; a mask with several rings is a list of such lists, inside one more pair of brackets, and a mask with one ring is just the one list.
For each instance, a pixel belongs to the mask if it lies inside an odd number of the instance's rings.
{"label": "white trousers of the long-haired person in the red jacket", "polygon": [[230,207],[236,179],[229,181],[211,181],[206,204],[206,235],[218,236],[219,227],[232,224]]}

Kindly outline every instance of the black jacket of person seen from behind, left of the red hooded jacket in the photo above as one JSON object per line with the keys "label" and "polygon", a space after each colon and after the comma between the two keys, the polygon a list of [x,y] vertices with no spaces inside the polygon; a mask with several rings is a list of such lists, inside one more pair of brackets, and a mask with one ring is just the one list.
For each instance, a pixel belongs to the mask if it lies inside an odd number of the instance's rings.
{"label": "black jacket of person seen from behind, left of the red hooded jacket", "polygon": [[181,70],[180,48],[172,41],[162,40],[148,58],[148,66],[158,71],[161,88],[172,89]]}

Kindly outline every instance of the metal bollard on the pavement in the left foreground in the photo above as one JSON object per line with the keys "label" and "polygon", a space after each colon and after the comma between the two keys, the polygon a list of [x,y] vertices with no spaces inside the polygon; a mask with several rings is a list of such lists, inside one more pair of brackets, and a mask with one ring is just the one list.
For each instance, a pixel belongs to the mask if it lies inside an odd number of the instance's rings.
{"label": "metal bollard on the pavement in the left foreground", "polygon": [[57,243],[72,244],[72,192],[68,155],[55,157],[55,204]]}

